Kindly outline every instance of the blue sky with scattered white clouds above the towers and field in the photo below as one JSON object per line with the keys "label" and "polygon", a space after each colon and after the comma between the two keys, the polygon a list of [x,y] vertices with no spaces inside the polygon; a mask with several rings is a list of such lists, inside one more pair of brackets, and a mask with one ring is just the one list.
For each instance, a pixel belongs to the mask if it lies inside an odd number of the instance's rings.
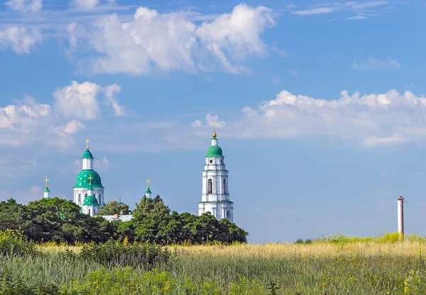
{"label": "blue sky with scattered white clouds above the towers and field", "polygon": [[423,1],[0,2],[0,199],[107,200],[151,178],[197,213],[217,122],[250,242],[424,234]]}

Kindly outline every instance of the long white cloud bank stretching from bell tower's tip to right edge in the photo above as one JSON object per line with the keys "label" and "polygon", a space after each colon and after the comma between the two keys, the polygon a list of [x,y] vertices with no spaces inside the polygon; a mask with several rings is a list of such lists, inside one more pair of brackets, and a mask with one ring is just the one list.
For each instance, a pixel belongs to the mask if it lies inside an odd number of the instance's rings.
{"label": "long white cloud bank stretching from bell tower's tip to right edge", "polygon": [[[258,109],[244,107],[241,119],[224,122],[209,114],[207,125],[219,122],[227,136],[240,138],[292,139],[298,137],[339,138],[364,147],[391,145],[426,139],[426,97],[410,91],[400,94],[349,95],[342,91],[337,100],[322,100],[288,91]],[[202,128],[192,124],[192,128]],[[221,132],[221,133],[222,133]]]}

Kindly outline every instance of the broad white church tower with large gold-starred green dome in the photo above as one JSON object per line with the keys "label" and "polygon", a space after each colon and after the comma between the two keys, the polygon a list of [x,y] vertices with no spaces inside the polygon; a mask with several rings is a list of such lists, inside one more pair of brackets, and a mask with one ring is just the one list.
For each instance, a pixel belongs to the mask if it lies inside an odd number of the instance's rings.
{"label": "broad white church tower with large gold-starred green dome", "polygon": [[[89,195],[89,182],[92,183],[92,195],[97,199],[99,205],[104,205],[104,187],[102,186],[101,177],[97,171],[93,170],[93,156],[89,151],[89,139],[86,139],[86,151],[82,157],[82,171],[78,173],[74,186],[74,203],[83,205],[84,198]],[[92,181],[89,181],[92,177]]]}

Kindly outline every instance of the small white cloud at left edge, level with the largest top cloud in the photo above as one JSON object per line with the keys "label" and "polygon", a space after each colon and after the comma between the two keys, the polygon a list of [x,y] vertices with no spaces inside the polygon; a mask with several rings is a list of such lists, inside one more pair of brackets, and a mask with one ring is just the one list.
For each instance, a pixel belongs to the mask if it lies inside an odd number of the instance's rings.
{"label": "small white cloud at left edge, level with the largest top cloud", "polygon": [[11,47],[18,54],[29,54],[36,43],[41,43],[42,36],[38,28],[10,26],[0,30],[0,46]]}

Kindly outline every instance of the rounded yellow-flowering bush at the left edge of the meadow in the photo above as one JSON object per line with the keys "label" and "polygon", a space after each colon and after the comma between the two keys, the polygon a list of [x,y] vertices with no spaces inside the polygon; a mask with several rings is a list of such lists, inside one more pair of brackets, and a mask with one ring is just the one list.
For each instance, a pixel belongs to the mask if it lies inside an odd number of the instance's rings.
{"label": "rounded yellow-flowering bush at the left edge of the meadow", "polygon": [[0,255],[34,255],[37,254],[33,242],[17,230],[0,230]]}

